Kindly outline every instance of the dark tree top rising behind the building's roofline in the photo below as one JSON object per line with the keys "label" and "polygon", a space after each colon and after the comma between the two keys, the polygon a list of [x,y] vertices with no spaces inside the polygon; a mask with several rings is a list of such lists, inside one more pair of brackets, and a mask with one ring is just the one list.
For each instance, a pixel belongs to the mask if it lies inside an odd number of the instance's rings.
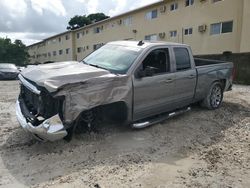
{"label": "dark tree top rising behind the building's roofline", "polygon": [[74,30],[79,27],[83,27],[85,25],[89,25],[93,22],[99,22],[101,20],[107,19],[109,16],[106,16],[104,13],[95,13],[95,14],[90,14],[88,16],[83,15],[83,16],[74,16],[73,18],[70,19],[69,21],[69,26],[67,27],[68,30]]}

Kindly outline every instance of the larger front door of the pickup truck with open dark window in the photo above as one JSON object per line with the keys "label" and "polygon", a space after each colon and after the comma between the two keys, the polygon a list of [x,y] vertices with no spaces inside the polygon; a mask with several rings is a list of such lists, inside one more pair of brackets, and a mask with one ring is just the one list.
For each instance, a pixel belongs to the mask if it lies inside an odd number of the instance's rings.
{"label": "larger front door of the pickup truck with open dark window", "polygon": [[170,59],[168,48],[153,50],[135,71],[134,120],[165,112],[170,107],[175,87]]}

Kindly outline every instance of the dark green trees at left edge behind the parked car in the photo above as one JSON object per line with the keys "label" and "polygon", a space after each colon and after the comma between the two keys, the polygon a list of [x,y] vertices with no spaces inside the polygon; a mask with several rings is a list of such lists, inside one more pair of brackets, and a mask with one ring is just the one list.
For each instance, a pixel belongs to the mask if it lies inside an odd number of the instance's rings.
{"label": "dark green trees at left edge behind the parked car", "polygon": [[28,63],[29,54],[21,40],[11,42],[9,38],[0,38],[0,63],[13,63],[19,66]]}

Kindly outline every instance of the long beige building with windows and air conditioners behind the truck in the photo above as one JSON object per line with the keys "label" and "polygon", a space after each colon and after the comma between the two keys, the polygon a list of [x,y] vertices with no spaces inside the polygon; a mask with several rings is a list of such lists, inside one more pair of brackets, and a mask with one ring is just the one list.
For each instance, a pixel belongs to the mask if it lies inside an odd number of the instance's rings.
{"label": "long beige building with windows and air conditioners behind the truck", "polygon": [[250,52],[250,0],[163,0],[44,39],[31,63],[81,60],[115,40],[189,44],[195,55]]}

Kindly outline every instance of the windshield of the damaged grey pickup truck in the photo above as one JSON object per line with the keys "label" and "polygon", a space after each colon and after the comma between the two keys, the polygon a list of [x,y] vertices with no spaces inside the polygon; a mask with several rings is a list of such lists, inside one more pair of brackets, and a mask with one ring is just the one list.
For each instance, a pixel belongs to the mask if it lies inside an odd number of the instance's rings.
{"label": "windshield of the damaged grey pickup truck", "polygon": [[109,70],[115,74],[126,74],[141,52],[141,48],[107,44],[82,62]]}

